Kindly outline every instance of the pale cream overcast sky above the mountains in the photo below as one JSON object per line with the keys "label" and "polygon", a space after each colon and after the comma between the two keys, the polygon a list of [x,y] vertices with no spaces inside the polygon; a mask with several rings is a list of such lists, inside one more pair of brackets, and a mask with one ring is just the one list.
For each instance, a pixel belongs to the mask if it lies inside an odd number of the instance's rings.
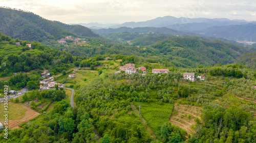
{"label": "pale cream overcast sky above the mountains", "polygon": [[31,11],[64,23],[123,23],[163,16],[256,20],[255,0],[1,0],[0,6]]}

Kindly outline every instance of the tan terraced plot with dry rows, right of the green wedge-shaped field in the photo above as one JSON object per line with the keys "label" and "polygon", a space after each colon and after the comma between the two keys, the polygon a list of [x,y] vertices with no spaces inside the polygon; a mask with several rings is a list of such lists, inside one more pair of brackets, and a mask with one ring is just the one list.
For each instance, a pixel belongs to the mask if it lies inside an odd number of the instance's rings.
{"label": "tan terraced plot with dry rows, right of the green wedge-shaped field", "polygon": [[195,125],[195,118],[200,118],[202,108],[191,105],[182,105],[175,103],[174,111],[169,121],[175,126],[179,126],[187,132],[187,134],[193,134],[191,129],[192,125]]}

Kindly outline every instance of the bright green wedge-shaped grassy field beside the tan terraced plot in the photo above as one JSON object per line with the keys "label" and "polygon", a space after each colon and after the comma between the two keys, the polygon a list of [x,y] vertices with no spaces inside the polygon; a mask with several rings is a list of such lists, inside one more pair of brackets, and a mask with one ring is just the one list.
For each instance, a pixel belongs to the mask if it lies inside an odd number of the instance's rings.
{"label": "bright green wedge-shaped grassy field beside the tan terraced plot", "polygon": [[141,115],[155,133],[161,125],[169,121],[174,108],[174,104],[162,103],[161,105],[159,102],[134,102],[134,104],[138,109],[141,105]]}

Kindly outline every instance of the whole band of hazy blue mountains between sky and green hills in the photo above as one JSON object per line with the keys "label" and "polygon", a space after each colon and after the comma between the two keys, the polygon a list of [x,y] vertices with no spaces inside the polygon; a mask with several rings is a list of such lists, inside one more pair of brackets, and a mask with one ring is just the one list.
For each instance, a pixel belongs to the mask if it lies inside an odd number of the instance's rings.
{"label": "whole band of hazy blue mountains between sky and green hills", "polygon": [[[175,30],[176,34],[181,32],[180,35],[187,33],[187,35],[205,35],[226,38],[229,40],[247,40],[256,41],[256,22],[246,20],[230,20],[227,18],[176,18],[173,16],[158,17],[152,20],[141,22],[125,22],[122,24],[100,24],[100,23],[79,23],[94,30],[97,34],[116,33],[120,27],[129,27],[123,32],[140,32],[142,28],[138,27],[157,27],[152,28],[152,32],[166,34],[168,31]],[[166,27],[172,30],[159,32],[159,27]],[[102,30],[104,28],[104,30]],[[119,28],[119,30],[117,29]],[[134,28],[131,30],[131,28]],[[107,30],[105,30],[107,29]],[[117,30],[115,30],[117,29]],[[124,29],[124,28],[122,28]],[[178,31],[178,32],[177,32]],[[194,33],[194,34],[191,34]]]}

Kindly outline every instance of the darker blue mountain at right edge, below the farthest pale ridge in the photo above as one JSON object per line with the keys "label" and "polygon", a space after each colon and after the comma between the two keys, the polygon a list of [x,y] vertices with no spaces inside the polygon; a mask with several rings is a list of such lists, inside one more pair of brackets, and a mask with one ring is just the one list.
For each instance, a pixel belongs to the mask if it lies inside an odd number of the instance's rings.
{"label": "darker blue mountain at right edge, below the farthest pale ridge", "polygon": [[246,40],[256,42],[256,24],[212,26],[198,31],[205,36],[224,37],[229,40]]}

